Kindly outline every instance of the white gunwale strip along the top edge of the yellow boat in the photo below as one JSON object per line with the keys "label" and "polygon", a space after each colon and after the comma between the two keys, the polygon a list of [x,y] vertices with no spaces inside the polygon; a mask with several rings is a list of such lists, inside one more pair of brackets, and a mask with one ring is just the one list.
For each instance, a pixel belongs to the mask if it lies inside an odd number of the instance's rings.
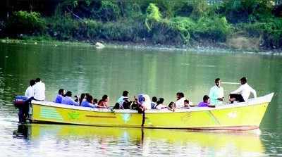
{"label": "white gunwale strip along the top edge of the yellow boat", "polygon": [[[214,110],[223,110],[227,108],[241,108],[246,106],[257,106],[262,103],[269,103],[274,96],[274,93],[266,94],[264,96],[259,96],[255,99],[249,99],[248,101],[242,103],[224,103],[224,105],[216,106],[215,108],[210,107],[192,107],[192,108],[180,108],[176,109],[176,111],[172,112],[170,110],[147,110],[146,113],[188,113],[188,112],[197,112],[197,111],[214,111]],[[264,101],[259,101],[260,99]],[[97,113],[138,113],[136,110],[132,109],[114,109],[111,111],[110,108],[88,108],[83,106],[72,106],[61,103],[54,103],[52,101],[34,101],[32,100],[32,105],[41,105],[41,106],[51,106],[55,108],[65,108],[65,109],[73,109],[79,111],[94,111]]]}

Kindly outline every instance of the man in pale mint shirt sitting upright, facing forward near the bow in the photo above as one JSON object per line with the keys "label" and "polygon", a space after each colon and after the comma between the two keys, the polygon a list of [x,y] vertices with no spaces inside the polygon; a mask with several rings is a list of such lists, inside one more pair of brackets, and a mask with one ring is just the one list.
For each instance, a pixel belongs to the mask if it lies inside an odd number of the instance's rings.
{"label": "man in pale mint shirt sitting upright, facing forward near the bow", "polygon": [[223,94],[223,87],[221,87],[220,78],[216,78],[216,80],[214,80],[214,83],[216,85],[210,89],[209,97],[210,97],[211,104],[217,106],[217,105],[222,104],[223,99],[224,99],[224,94]]}

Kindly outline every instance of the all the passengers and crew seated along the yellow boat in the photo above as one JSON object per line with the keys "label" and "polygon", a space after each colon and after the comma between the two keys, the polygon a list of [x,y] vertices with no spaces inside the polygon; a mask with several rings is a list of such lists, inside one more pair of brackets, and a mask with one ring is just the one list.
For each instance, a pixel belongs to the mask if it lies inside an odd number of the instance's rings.
{"label": "all the passengers and crew seated along the yellow boat", "polygon": [[[219,78],[216,78],[214,82],[215,85],[210,89],[209,96],[204,95],[203,101],[198,103],[196,106],[214,107],[223,103],[224,94],[223,87],[221,87],[221,80]],[[242,77],[240,79],[240,83],[241,86],[237,90],[229,94],[230,103],[247,101],[250,93],[252,93],[254,97],[257,97],[255,89],[252,89],[252,87],[247,84],[246,77]],[[27,88],[25,96],[28,97],[28,102],[30,102],[32,99],[37,101],[44,101],[44,92],[45,84],[39,78],[37,78],[36,80],[30,80],[30,87]],[[130,101],[128,94],[128,91],[123,91],[122,96],[119,97],[116,101],[114,109],[136,109],[139,112],[144,112],[145,110],[149,109],[161,110],[166,108],[168,110],[175,111],[176,108],[190,108],[191,106],[195,106],[191,101],[185,98],[183,92],[176,93],[176,101],[171,101],[167,106],[164,104],[164,98],[161,97],[157,99],[156,96],[153,96],[151,101],[147,94],[138,94],[137,97],[134,96],[133,101]],[[100,99],[99,101],[89,93],[83,93],[80,95],[80,97],[75,96],[75,99],[72,99],[72,92],[66,92],[64,89],[59,89],[58,95],[56,96],[54,102],[73,106],[84,106],[89,108],[109,108],[109,96],[107,95],[102,96],[102,99]],[[21,119],[24,119],[23,117],[26,116],[25,109],[20,111],[19,115]]]}

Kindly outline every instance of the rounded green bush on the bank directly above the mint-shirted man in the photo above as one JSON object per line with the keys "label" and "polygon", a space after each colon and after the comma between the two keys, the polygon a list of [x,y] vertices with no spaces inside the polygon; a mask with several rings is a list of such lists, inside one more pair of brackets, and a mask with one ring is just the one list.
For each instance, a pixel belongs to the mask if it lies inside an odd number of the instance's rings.
{"label": "rounded green bush on the bank directly above the mint-shirted man", "polygon": [[200,18],[193,34],[213,41],[225,42],[228,34],[231,33],[231,25],[226,18]]}

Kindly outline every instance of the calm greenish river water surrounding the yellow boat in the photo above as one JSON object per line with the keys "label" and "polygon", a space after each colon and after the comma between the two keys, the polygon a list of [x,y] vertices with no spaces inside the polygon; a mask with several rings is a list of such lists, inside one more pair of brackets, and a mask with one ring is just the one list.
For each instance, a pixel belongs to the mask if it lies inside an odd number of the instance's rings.
{"label": "calm greenish river water surrounding the yellow boat", "polygon": [[[0,44],[0,156],[282,156],[282,57],[233,52],[94,49],[92,46]],[[259,130],[191,132],[76,125],[18,125],[14,96],[40,77],[47,100],[60,88],[73,94],[107,94],[111,105],[123,90],[194,103],[214,79],[247,77],[258,96],[275,92]],[[222,84],[225,97],[238,84]]]}

